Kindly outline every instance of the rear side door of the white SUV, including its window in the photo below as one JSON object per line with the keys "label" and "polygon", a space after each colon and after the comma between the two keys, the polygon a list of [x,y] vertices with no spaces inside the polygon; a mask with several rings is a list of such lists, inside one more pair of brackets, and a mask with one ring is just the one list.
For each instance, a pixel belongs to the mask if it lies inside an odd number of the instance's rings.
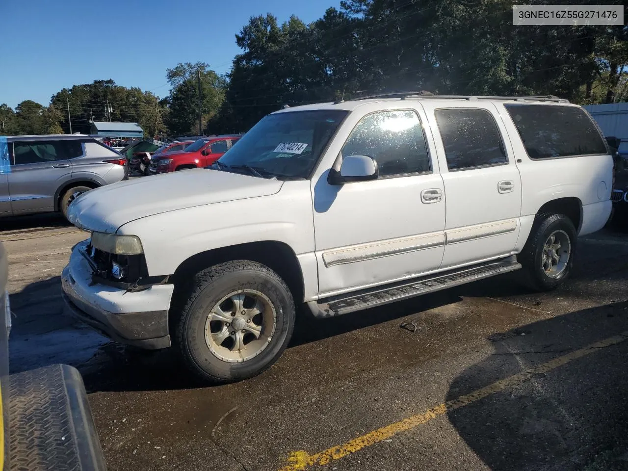
{"label": "rear side door of the white SUV, including its window", "polygon": [[519,235],[521,177],[497,108],[478,101],[422,104],[445,184],[441,268],[510,255]]}

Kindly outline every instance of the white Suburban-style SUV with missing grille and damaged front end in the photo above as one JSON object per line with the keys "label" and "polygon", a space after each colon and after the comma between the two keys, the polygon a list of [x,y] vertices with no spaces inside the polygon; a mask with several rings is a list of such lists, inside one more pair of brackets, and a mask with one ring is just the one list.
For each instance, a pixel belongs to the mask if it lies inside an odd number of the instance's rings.
{"label": "white Suburban-style SUV with missing grille and damaged front end", "polygon": [[211,168],[77,198],[92,236],[63,291],[106,335],[234,381],[278,359],[295,304],[329,317],[519,268],[555,288],[609,218],[612,172],[595,122],[556,97],[284,107]]}

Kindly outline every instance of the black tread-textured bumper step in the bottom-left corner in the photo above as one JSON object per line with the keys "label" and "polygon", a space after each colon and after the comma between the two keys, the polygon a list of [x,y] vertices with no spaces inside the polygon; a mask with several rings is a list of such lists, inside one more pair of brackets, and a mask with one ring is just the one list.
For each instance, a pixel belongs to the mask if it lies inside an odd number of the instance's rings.
{"label": "black tread-textured bumper step in the bottom-left corner", "polygon": [[8,377],[5,469],[105,471],[100,441],[78,371],[51,365]]}

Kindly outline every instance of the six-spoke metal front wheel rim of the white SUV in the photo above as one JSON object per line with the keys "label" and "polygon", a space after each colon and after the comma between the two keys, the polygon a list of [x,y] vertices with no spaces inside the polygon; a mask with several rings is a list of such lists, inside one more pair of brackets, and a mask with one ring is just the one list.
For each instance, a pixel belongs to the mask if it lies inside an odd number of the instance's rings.
{"label": "six-spoke metal front wheel rim of the white SUV", "polygon": [[277,312],[268,297],[256,290],[234,291],[207,315],[205,343],[220,360],[245,362],[268,347],[276,325]]}

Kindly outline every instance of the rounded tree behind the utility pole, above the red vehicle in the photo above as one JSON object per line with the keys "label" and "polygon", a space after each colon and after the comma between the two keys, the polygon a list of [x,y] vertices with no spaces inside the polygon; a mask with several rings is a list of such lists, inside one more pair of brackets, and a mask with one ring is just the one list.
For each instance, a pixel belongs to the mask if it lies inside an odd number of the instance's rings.
{"label": "rounded tree behind the utility pole, above the red vehicle", "polygon": [[227,82],[204,62],[178,63],[166,71],[171,90],[168,97],[169,111],[166,117],[168,129],[173,134],[198,133],[198,73],[200,72],[200,95],[202,130],[214,118],[225,97]]}

